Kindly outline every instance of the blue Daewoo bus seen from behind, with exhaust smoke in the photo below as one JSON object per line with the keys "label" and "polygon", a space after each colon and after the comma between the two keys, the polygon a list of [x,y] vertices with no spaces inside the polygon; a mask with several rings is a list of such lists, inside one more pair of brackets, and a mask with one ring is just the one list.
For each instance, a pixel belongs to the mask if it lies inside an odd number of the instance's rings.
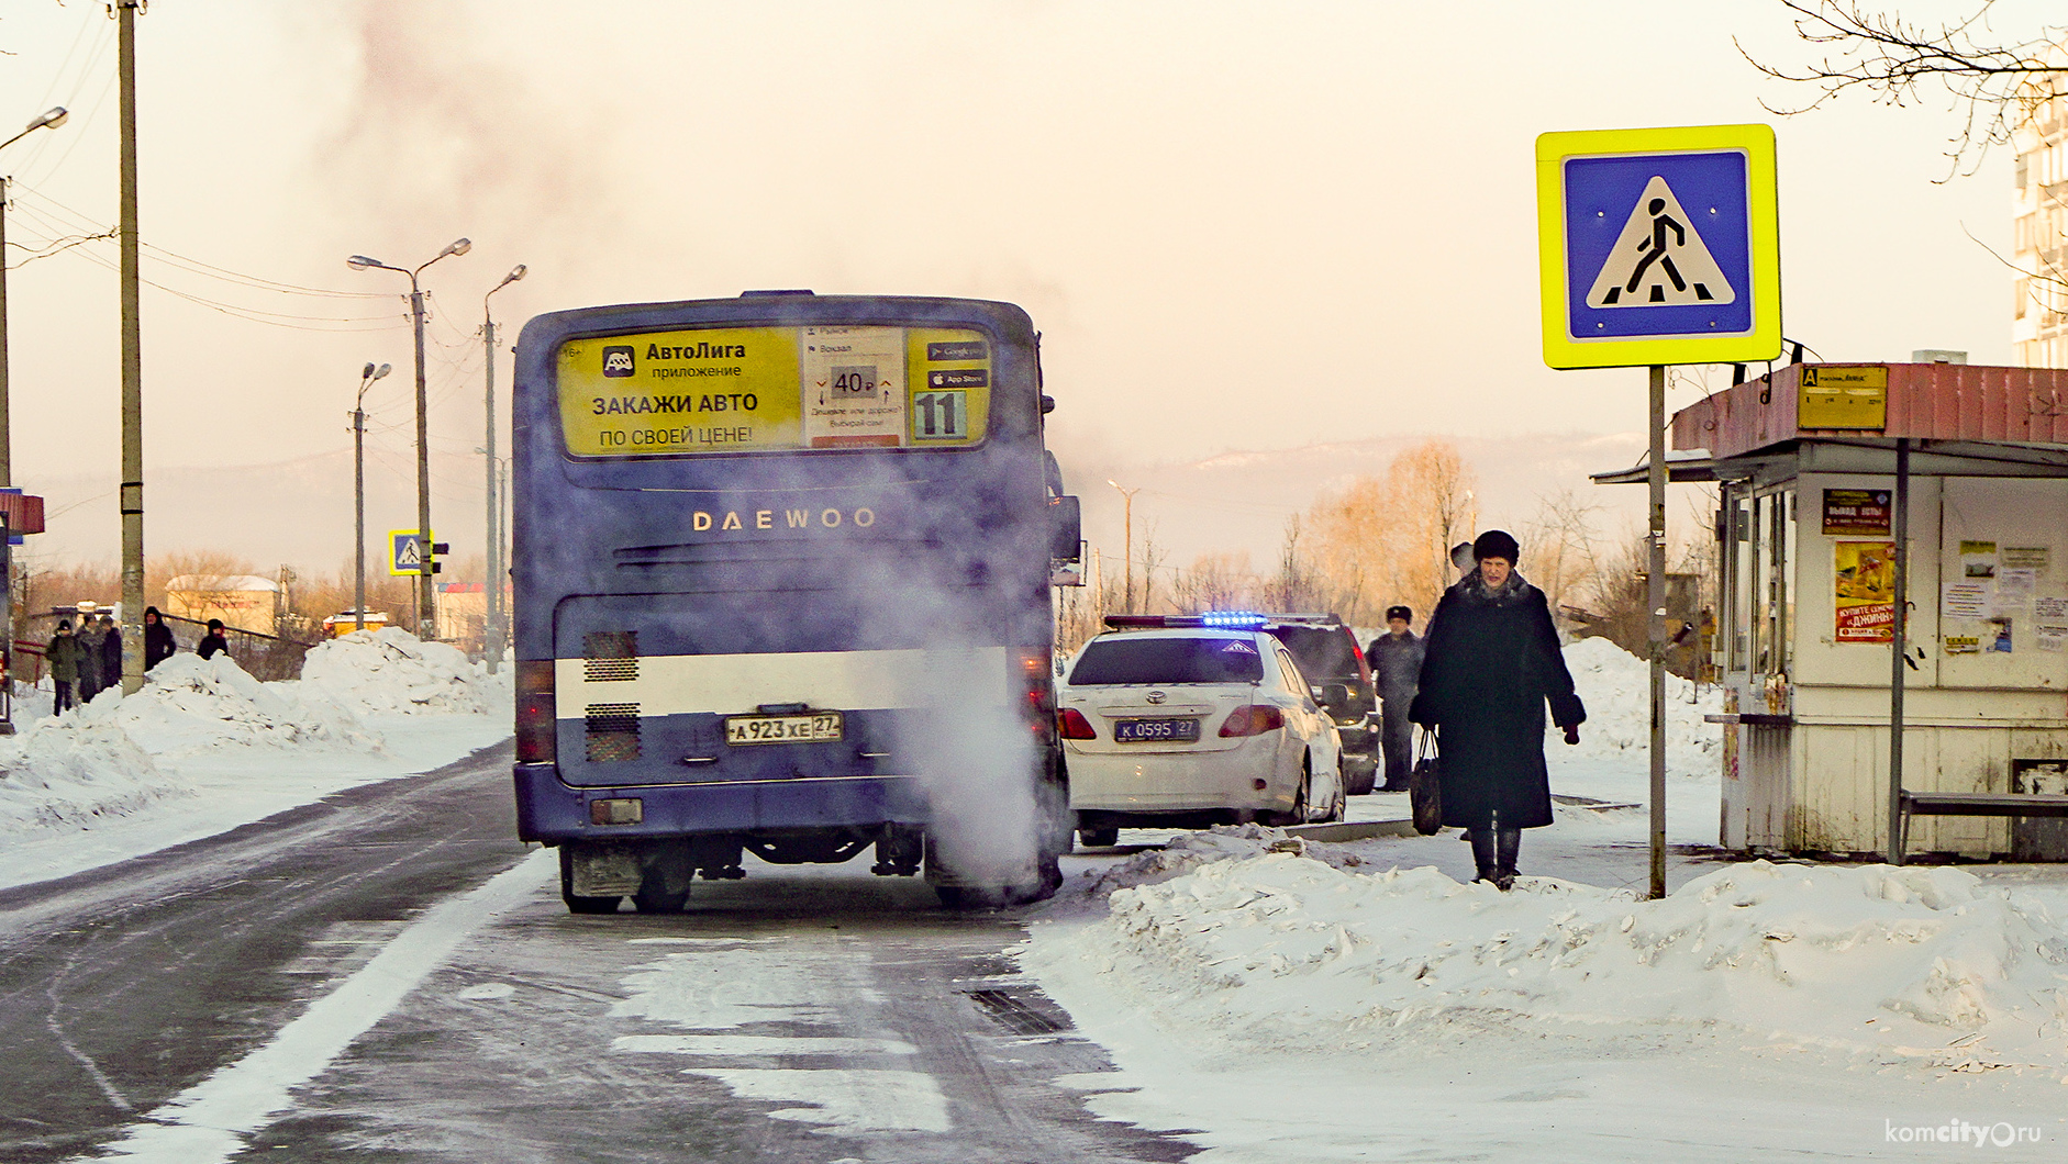
{"label": "blue Daewoo bus seen from behind, with exhaust smoke", "polygon": [[1055,891],[1077,511],[1036,343],[1011,304],[809,292],[525,325],[517,829],[569,910],[676,912],[744,854]]}

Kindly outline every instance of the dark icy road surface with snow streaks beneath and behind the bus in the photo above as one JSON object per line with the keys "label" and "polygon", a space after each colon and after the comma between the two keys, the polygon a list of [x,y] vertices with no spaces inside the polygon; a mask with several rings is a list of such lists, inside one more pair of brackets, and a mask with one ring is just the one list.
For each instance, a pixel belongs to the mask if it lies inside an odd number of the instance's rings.
{"label": "dark icy road surface with snow streaks beneath and behind the bus", "polygon": [[1181,1160],[918,881],[759,866],[577,918],[509,748],[0,891],[0,1158]]}

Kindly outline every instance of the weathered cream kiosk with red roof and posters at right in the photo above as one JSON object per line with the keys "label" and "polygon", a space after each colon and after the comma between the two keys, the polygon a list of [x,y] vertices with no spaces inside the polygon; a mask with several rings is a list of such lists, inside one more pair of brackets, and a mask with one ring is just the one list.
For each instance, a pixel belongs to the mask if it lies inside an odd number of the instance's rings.
{"label": "weathered cream kiosk with red roof and posters at right", "polygon": [[1721,486],[1721,844],[2068,860],[2068,370],[1793,364],[1673,449]]}

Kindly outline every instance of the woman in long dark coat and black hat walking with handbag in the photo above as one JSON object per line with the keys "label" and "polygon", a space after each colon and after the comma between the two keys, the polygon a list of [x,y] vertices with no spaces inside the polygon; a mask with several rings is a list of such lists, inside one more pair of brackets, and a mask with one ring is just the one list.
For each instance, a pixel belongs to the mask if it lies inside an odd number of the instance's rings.
{"label": "woman in long dark coat and black hat walking with handbag", "polygon": [[1518,554],[1499,529],[1472,542],[1479,571],[1446,589],[1429,618],[1412,711],[1437,732],[1443,823],[1470,829],[1477,879],[1503,891],[1516,881],[1522,829],[1551,823],[1545,701],[1568,744],[1586,722],[1551,606],[1516,573]]}

